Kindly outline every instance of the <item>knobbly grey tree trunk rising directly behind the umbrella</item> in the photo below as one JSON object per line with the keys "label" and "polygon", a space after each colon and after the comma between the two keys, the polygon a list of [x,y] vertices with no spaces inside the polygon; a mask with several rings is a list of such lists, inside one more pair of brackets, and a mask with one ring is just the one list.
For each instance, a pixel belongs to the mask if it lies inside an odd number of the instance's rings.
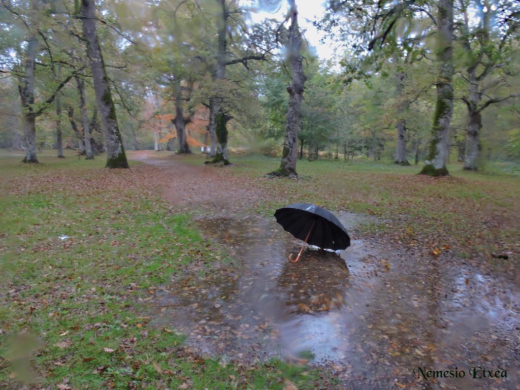
{"label": "knobbly grey tree trunk rising directly behind the umbrella", "polygon": [[303,58],[301,55],[302,35],[298,27],[298,10],[294,0],[289,0],[291,25],[289,27],[289,62],[292,69],[292,83],[287,88],[289,93],[289,109],[285,116],[285,139],[283,141],[282,161],[278,174],[297,176],[296,160],[298,157],[298,131],[300,130],[301,107],[305,74],[303,73]]}

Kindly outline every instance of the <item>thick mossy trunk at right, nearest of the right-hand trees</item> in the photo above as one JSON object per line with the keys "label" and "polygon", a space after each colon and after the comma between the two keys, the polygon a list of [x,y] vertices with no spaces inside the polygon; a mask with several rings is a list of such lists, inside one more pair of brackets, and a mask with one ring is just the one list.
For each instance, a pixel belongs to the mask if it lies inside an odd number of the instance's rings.
{"label": "thick mossy trunk at right, nearest of the right-hand trees", "polygon": [[421,174],[448,175],[448,132],[453,114],[453,0],[439,0],[437,17],[437,101],[430,148]]}

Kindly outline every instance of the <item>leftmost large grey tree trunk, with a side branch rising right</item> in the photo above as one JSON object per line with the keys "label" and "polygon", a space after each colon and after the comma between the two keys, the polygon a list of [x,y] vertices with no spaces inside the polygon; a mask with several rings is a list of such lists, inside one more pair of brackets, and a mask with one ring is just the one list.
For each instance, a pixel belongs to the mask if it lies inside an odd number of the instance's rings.
{"label": "leftmost large grey tree trunk, with a side branch rising right", "polygon": [[23,120],[23,146],[25,147],[25,163],[37,163],[36,157],[36,115],[34,113],[34,66],[38,50],[38,38],[31,35],[27,43],[27,58],[25,58],[25,74],[23,85],[19,85],[22,101]]}

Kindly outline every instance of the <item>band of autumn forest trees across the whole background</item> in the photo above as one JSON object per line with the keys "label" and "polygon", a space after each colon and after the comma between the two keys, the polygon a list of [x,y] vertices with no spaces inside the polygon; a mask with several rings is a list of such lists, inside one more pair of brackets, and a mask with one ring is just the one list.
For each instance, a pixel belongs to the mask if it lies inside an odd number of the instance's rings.
{"label": "band of autumn forest trees across the whole background", "polygon": [[517,169],[516,2],[331,2],[306,25],[333,58],[281,6],[5,1],[0,146],[28,162],[108,151],[108,166],[123,149],[227,163],[231,148],[283,154],[283,174],[298,158]]}

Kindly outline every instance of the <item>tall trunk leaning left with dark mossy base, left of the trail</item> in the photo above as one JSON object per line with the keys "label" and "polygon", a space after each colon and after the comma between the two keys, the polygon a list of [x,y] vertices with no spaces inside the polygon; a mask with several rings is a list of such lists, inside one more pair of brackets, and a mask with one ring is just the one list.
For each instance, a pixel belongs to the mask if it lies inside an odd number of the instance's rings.
{"label": "tall trunk leaning left with dark mossy base, left of the trail", "polygon": [[81,21],[83,23],[83,37],[87,40],[87,54],[92,70],[94,91],[101,115],[101,124],[105,131],[107,144],[107,168],[128,168],[115,106],[108,84],[107,70],[99,46],[96,29],[96,7],[94,0],[81,0]]}

